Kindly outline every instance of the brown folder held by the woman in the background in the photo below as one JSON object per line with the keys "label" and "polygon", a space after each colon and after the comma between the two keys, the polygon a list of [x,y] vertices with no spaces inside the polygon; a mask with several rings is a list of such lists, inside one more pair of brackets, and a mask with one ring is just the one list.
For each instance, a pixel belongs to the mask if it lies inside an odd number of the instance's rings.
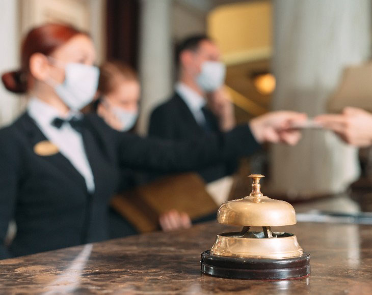
{"label": "brown folder held by the woman in the background", "polygon": [[166,176],[150,184],[113,197],[111,206],[139,232],[159,229],[158,217],[171,209],[197,219],[218,206],[205,190],[205,183],[196,173]]}

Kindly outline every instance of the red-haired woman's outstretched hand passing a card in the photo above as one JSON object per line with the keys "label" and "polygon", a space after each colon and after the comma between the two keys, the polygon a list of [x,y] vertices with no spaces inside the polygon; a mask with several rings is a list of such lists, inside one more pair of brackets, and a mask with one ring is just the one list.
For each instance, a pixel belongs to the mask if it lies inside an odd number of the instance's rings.
{"label": "red-haired woman's outstretched hand passing a card", "polygon": [[296,122],[307,119],[307,115],[295,111],[274,111],[255,117],[249,122],[253,136],[262,142],[284,142],[295,145],[301,132],[291,128]]}

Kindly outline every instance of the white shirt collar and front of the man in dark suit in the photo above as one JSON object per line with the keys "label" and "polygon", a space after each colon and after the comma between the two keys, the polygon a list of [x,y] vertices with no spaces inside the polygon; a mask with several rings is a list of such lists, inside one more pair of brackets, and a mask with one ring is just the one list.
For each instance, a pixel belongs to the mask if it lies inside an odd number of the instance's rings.
{"label": "white shirt collar and front of the man in dark suit", "polygon": [[205,106],[205,98],[198,94],[196,91],[192,90],[188,85],[178,82],[175,86],[176,92],[182,98],[182,100],[187,104],[196,122],[202,126],[205,124],[205,116],[202,111],[202,107]]}

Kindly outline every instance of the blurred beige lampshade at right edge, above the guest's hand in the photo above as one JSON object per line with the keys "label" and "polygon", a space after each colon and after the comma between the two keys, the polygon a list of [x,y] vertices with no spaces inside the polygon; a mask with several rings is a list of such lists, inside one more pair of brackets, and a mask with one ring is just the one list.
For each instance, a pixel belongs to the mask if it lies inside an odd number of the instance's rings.
{"label": "blurred beige lampshade at right edge, above the guest's hand", "polygon": [[329,100],[328,111],[338,113],[346,106],[372,112],[372,62],[343,71],[341,82]]}

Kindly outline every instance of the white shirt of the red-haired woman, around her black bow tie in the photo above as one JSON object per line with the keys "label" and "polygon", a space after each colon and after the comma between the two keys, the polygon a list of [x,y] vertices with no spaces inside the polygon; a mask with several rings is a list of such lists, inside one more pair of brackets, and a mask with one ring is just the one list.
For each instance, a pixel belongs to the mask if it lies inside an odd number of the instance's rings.
{"label": "white shirt of the red-haired woman, around her black bow tie", "polygon": [[30,100],[27,110],[45,137],[55,144],[61,154],[83,175],[88,191],[93,193],[95,188],[94,178],[84,149],[82,134],[73,129],[70,124],[63,124],[61,128],[57,128],[51,124],[56,117],[69,120],[73,116],[82,116],[82,113],[70,112],[67,116],[62,117],[56,108],[38,98],[32,98]]}

